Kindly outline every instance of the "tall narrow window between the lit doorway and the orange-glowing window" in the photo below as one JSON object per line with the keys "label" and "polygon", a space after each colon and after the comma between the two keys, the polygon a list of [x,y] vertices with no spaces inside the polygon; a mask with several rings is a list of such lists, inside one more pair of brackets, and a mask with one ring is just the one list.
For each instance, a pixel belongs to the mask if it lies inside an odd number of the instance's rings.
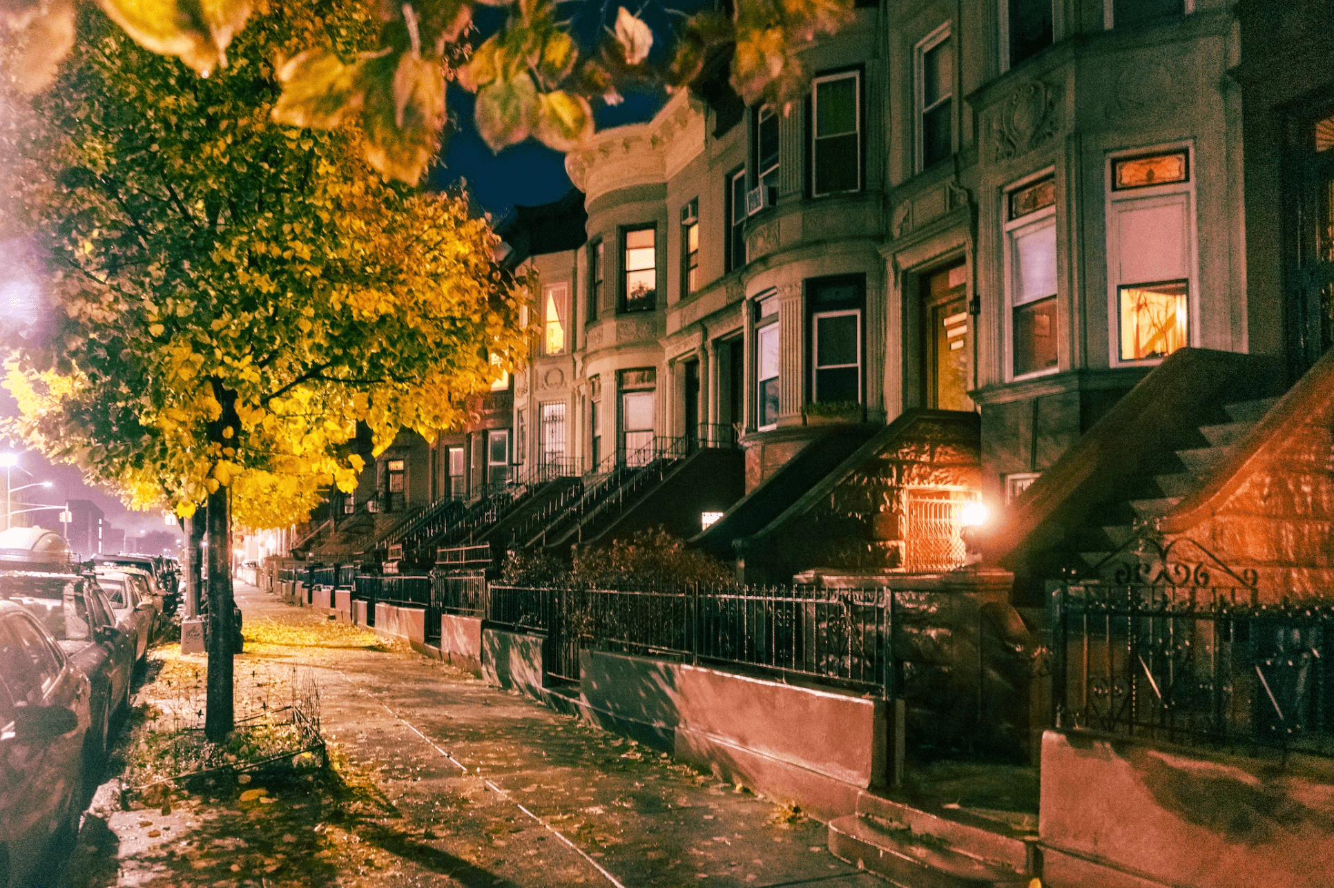
{"label": "tall narrow window between the lit doorway and the orange-glowing window", "polygon": [[1057,367],[1055,180],[1039,179],[1006,196],[1010,343],[1014,377]]}

